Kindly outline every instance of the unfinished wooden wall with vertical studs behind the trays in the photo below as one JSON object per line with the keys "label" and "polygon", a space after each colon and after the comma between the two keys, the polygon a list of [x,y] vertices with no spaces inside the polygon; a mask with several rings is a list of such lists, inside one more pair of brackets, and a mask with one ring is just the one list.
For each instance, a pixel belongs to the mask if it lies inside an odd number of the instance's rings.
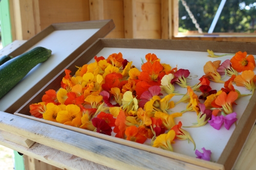
{"label": "unfinished wooden wall with vertical studs behind the trays", "polygon": [[178,0],[9,0],[13,40],[27,40],[52,23],[113,19],[107,38],[256,41],[253,37],[174,37]]}

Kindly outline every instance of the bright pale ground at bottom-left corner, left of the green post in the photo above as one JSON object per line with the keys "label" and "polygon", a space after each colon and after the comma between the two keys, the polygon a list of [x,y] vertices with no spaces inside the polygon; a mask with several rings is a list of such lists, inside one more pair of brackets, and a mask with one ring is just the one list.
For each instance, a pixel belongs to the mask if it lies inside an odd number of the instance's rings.
{"label": "bright pale ground at bottom-left corner, left of the green post", "polygon": [[13,150],[0,145],[0,169],[1,170],[13,170]]}

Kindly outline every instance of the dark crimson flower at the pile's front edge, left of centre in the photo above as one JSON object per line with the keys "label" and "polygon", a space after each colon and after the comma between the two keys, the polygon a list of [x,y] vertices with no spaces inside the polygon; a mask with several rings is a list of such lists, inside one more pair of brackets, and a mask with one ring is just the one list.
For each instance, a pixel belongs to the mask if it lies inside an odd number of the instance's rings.
{"label": "dark crimson flower at the pile's front edge, left of centre", "polygon": [[104,119],[100,119],[98,117],[95,117],[95,118],[92,119],[92,124],[96,128],[96,132],[111,136],[112,129],[105,122]]}

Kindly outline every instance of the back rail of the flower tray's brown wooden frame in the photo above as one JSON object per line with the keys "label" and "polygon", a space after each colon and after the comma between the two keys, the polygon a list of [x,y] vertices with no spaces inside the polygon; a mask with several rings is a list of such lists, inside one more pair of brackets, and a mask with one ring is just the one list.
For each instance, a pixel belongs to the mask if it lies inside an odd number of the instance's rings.
{"label": "back rail of the flower tray's brown wooden frame", "polygon": [[256,55],[255,42],[227,41],[190,41],[190,40],[161,40],[161,39],[100,39],[104,47],[114,48],[144,48],[159,50],[179,50],[207,52],[211,49],[216,53],[234,54],[243,49],[248,54]]}

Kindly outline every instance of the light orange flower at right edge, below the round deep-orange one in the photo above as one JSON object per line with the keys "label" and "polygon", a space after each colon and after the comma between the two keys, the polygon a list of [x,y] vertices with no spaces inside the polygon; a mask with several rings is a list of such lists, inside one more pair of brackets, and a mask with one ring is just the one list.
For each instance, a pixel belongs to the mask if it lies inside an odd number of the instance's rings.
{"label": "light orange flower at right edge, below the round deep-orange one", "polygon": [[236,82],[237,86],[245,86],[248,90],[252,91],[256,89],[254,81],[256,80],[256,76],[254,76],[254,72],[251,70],[245,70],[242,72],[242,75],[238,75],[234,78],[234,82]]}

